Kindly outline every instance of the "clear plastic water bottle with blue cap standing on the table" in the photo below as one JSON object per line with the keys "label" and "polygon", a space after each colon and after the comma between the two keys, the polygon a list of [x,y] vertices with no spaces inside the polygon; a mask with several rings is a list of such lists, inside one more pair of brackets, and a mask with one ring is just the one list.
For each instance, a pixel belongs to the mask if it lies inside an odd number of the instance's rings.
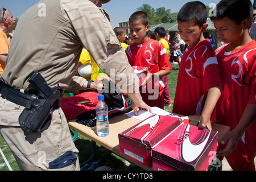
{"label": "clear plastic water bottle with blue cap standing on the table", "polygon": [[98,104],[96,105],[96,128],[99,137],[106,137],[109,134],[109,116],[108,105],[104,101],[104,95],[98,96]]}

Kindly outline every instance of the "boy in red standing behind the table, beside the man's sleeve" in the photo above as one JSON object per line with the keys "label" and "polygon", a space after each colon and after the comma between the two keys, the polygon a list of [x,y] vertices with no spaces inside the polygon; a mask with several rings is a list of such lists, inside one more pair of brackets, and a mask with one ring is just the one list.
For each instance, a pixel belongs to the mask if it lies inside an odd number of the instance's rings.
{"label": "boy in red standing behind the table, beside the man's sleeve", "polygon": [[125,51],[129,63],[131,66],[147,68],[146,79],[141,85],[141,96],[149,106],[163,109],[164,84],[160,78],[171,73],[167,51],[162,43],[148,38],[147,31],[150,26],[146,13],[142,11],[133,13],[129,18],[129,26],[130,34],[135,42]]}

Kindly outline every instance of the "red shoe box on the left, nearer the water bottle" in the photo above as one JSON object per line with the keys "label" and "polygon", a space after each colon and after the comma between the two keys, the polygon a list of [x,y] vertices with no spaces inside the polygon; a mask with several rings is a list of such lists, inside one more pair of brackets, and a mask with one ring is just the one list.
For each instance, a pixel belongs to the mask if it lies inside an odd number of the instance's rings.
{"label": "red shoe box on the left, nearer the water bottle", "polygon": [[182,123],[179,117],[152,115],[118,134],[120,153],[149,167],[152,148]]}

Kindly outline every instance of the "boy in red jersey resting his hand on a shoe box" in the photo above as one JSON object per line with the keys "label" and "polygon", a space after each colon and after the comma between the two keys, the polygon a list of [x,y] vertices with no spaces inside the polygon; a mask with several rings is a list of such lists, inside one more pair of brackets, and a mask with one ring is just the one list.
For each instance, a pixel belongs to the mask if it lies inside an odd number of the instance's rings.
{"label": "boy in red jersey resting his hand on a shoe box", "polygon": [[200,114],[201,126],[212,129],[216,121],[214,107],[221,95],[222,82],[212,46],[205,40],[207,9],[199,1],[181,7],[177,23],[181,39],[188,44],[181,59],[173,112],[183,115]]}

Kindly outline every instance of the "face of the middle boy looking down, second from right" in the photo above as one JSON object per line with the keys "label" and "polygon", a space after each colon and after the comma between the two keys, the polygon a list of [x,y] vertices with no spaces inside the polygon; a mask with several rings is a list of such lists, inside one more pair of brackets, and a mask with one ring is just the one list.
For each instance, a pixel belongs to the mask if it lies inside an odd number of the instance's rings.
{"label": "face of the middle boy looking down, second from right", "polygon": [[192,22],[177,22],[178,23],[178,30],[182,40],[186,44],[189,45],[190,48],[195,47],[201,38],[201,35],[207,28],[208,24],[205,27],[199,27]]}

